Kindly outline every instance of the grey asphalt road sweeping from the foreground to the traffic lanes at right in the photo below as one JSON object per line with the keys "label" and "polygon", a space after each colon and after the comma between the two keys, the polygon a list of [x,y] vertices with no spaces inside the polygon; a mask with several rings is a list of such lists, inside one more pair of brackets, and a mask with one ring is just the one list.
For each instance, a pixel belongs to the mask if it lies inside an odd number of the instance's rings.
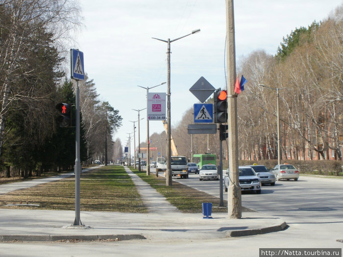
{"label": "grey asphalt road sweeping from the foreground to the traffic lanes at right", "polygon": [[[201,190],[219,195],[218,182],[202,181],[191,175],[188,180]],[[320,181],[303,177],[298,182],[280,182],[275,187],[263,187],[262,194],[244,194],[243,205],[262,213],[282,215],[290,228],[276,233],[213,240],[182,238],[135,240],[120,242],[80,243],[0,243],[0,256],[6,257],[247,257],[259,256],[259,248],[342,248],[336,241],[343,239],[343,181]],[[303,186],[304,185],[304,186]],[[207,188],[207,189],[206,189]],[[334,199],[331,200],[330,196]],[[226,193],[224,193],[224,197]],[[321,210],[310,208],[321,206]],[[307,209],[302,209],[307,208]],[[334,210],[330,210],[330,209]],[[244,222],[244,219],[242,220]],[[137,221],[139,222],[139,221]],[[187,223],[185,223],[187,226]],[[230,226],[228,224],[228,226]]]}

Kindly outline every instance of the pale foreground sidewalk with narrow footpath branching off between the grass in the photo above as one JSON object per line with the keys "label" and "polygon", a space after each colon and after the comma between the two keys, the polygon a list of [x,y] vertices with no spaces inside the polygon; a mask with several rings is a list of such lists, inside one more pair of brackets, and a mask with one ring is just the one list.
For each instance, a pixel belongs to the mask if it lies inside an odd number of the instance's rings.
{"label": "pale foreground sidewalk with narrow footpath branching off between the grass", "polygon": [[[196,240],[281,231],[286,223],[259,212],[243,212],[242,219],[227,213],[182,213],[127,167],[149,213],[81,211],[84,226],[72,226],[74,211],[0,209],[0,241],[57,240]],[[0,186],[1,187],[1,186]]]}

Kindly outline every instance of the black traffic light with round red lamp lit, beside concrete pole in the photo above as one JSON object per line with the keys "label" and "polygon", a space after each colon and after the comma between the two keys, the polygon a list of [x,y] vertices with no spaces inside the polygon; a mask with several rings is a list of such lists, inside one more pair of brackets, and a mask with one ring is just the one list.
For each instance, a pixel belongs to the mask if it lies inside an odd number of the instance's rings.
{"label": "black traffic light with round red lamp lit, beside concrete pole", "polygon": [[214,92],[214,122],[227,122],[227,91],[218,89]]}

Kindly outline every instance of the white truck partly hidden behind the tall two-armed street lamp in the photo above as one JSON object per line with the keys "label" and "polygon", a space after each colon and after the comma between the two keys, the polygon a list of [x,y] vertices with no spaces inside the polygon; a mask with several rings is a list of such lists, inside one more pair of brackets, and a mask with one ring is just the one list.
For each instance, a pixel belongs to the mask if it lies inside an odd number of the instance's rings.
{"label": "white truck partly hidden behind the tall two-armed street lamp", "polygon": [[[179,176],[182,179],[188,179],[188,165],[185,156],[172,156],[171,157],[172,176]],[[158,171],[167,170],[166,159],[158,157],[156,162],[156,169]]]}

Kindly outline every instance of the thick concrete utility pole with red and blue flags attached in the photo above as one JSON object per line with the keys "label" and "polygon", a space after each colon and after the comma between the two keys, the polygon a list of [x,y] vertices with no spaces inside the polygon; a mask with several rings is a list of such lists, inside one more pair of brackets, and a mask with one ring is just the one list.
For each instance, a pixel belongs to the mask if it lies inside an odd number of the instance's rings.
{"label": "thick concrete utility pole with red and blue flags attached", "polygon": [[226,69],[227,69],[227,113],[229,143],[230,185],[227,193],[227,212],[230,218],[242,217],[242,196],[238,173],[238,126],[237,94],[234,92],[236,80],[235,22],[233,0],[225,0],[226,5]]}

